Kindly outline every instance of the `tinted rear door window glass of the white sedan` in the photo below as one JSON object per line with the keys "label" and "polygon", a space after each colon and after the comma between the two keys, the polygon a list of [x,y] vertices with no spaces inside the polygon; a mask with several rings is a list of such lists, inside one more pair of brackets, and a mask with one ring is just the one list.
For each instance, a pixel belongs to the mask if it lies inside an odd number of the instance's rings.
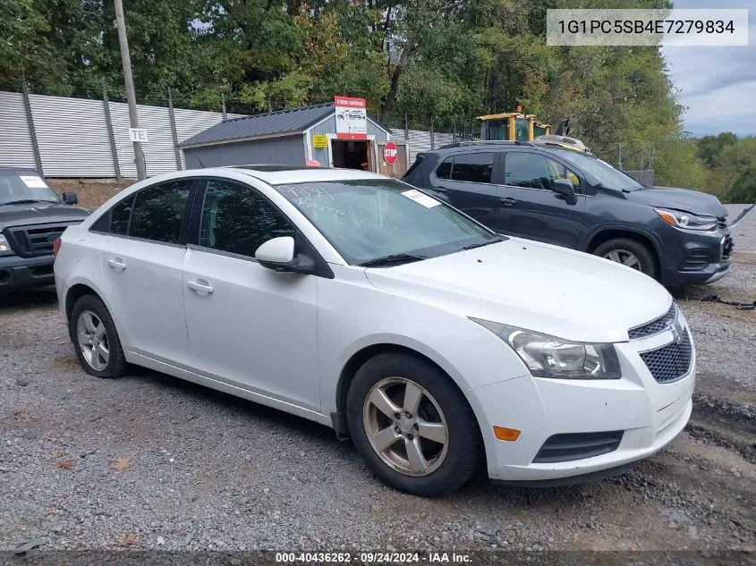
{"label": "tinted rear door window glass of the white sedan", "polygon": [[[144,240],[179,243],[183,215],[193,184],[193,180],[185,179],[140,190],[133,201],[128,235]],[[115,215],[111,214],[111,230],[114,219]]]}

